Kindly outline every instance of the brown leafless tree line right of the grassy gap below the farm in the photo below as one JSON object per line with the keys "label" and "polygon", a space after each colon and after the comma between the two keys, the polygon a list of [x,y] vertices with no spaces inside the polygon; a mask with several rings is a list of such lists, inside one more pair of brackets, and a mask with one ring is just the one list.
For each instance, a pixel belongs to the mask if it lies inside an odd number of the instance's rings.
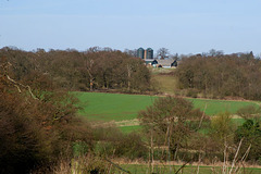
{"label": "brown leafless tree line right of the grassy gap below the farm", "polygon": [[261,61],[252,53],[184,58],[176,77],[190,97],[261,99]]}

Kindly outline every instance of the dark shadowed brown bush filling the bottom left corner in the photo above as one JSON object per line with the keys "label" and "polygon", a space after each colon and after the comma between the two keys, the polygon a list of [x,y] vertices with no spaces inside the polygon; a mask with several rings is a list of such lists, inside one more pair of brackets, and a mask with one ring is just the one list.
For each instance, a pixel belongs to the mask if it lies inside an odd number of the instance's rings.
{"label": "dark shadowed brown bush filling the bottom left corner", "polygon": [[53,137],[32,116],[35,111],[18,95],[1,94],[0,100],[0,173],[28,173],[49,162]]}

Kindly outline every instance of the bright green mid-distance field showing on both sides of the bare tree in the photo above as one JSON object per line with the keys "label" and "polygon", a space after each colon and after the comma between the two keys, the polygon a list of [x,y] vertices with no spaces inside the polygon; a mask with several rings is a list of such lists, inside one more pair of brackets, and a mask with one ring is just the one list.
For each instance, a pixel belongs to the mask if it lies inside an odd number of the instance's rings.
{"label": "bright green mid-distance field showing on both sides of the bare tree", "polygon": [[[121,95],[121,94],[101,94],[101,92],[77,92],[76,94],[83,110],[80,115],[87,116],[90,121],[124,121],[137,119],[140,110],[152,104],[157,97],[140,95]],[[227,100],[208,100],[208,99],[188,99],[195,108],[204,110],[206,114],[214,115],[219,112],[236,111],[249,104],[258,105],[252,101],[227,101]]]}

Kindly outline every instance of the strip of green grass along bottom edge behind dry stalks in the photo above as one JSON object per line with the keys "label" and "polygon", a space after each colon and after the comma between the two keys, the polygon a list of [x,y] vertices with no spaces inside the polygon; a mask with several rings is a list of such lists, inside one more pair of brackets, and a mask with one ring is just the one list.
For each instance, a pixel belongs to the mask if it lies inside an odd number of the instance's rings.
{"label": "strip of green grass along bottom edge behind dry stalks", "polygon": [[[146,174],[148,173],[148,165],[139,165],[139,164],[127,164],[127,165],[121,165],[124,170],[129,171],[132,174]],[[154,172],[156,173],[162,173],[162,174],[174,174],[175,171],[177,171],[181,166],[171,166],[170,172],[170,166],[154,166]],[[199,173],[200,174],[211,174],[211,173],[221,173],[222,167],[221,166],[200,166],[199,167]],[[191,173],[197,173],[198,167],[195,165],[187,165],[184,167],[179,173],[183,174],[191,174]],[[121,173],[119,171],[119,173]],[[241,170],[241,174],[244,171]],[[245,169],[245,174],[260,174],[261,169],[253,169],[253,167],[248,167]]]}

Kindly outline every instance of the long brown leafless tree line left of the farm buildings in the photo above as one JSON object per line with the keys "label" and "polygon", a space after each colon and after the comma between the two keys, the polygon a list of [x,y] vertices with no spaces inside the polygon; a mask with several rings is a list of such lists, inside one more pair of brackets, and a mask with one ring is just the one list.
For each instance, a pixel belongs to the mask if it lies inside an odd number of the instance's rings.
{"label": "long brown leafless tree line left of the farm buildings", "polygon": [[[109,48],[87,51],[2,48],[0,57],[15,69],[14,78],[33,82],[48,76],[53,85],[67,90],[151,91],[149,70],[140,59]],[[33,75],[34,74],[34,75]]]}

